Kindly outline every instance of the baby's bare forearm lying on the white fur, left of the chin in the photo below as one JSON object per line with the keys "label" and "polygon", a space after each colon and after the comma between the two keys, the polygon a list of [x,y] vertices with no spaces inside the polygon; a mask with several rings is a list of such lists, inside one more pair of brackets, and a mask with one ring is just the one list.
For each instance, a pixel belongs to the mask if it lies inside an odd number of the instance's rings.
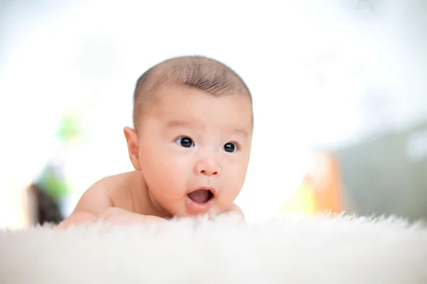
{"label": "baby's bare forearm lying on the white fur, left of the chin", "polygon": [[157,216],[137,214],[117,207],[107,208],[99,220],[110,224],[158,224],[167,222],[166,219]]}

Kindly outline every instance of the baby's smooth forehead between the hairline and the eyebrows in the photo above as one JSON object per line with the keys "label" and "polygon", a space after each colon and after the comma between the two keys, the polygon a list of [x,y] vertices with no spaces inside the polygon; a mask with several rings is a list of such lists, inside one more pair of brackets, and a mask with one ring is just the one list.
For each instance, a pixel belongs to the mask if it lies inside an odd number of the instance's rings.
{"label": "baby's smooth forehead between the hairline and the eyebrows", "polygon": [[209,125],[239,125],[252,129],[252,104],[248,94],[214,96],[191,87],[162,87],[147,113],[164,123],[193,121]]}

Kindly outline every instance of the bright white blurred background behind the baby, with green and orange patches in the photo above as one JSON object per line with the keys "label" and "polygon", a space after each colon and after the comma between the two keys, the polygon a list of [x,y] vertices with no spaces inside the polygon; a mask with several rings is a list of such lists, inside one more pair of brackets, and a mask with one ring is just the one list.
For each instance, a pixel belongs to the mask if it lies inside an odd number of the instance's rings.
{"label": "bright white blurred background behind the baby, with green and orange patches", "polygon": [[255,132],[248,222],[325,210],[427,219],[427,1],[0,1],[0,228],[60,222],[132,170],[137,77],[231,66]]}

